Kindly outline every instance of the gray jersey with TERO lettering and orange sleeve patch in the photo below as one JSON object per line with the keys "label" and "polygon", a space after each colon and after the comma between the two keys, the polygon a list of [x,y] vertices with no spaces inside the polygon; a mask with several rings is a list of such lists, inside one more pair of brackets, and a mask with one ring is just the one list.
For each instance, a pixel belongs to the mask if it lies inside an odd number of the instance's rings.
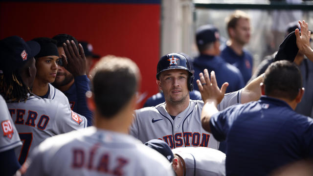
{"label": "gray jersey with TERO lettering and orange sleeve patch", "polygon": [[28,153],[45,138],[87,127],[84,116],[52,99],[30,96],[26,102],[7,105],[23,141],[23,146],[15,150],[20,163],[23,163]]}

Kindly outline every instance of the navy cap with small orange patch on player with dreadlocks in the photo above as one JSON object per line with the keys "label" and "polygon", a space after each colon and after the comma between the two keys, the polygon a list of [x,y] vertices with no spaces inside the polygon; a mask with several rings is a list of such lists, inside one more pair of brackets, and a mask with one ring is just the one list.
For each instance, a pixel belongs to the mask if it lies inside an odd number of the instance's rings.
{"label": "navy cap with small orange patch on player with dreadlocks", "polygon": [[0,73],[12,73],[40,51],[35,41],[25,42],[19,36],[0,40]]}

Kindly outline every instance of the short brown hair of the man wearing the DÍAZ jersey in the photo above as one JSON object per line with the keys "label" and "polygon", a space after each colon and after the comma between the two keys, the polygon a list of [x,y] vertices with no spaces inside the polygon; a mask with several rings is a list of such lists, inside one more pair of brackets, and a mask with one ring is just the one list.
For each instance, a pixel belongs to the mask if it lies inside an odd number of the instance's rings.
{"label": "short brown hair of the man wearing the D\u00cdAZ jersey", "polygon": [[139,68],[132,60],[112,55],[102,57],[91,75],[96,108],[106,118],[131,100],[140,82]]}

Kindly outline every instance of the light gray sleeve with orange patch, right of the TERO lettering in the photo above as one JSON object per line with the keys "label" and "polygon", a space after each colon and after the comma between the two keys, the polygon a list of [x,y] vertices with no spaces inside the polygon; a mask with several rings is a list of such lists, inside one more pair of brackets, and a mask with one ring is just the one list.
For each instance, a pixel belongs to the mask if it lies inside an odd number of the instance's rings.
{"label": "light gray sleeve with orange patch, right of the TERO lettering", "polygon": [[56,112],[58,134],[87,127],[86,117],[70,110],[67,105],[58,104]]}

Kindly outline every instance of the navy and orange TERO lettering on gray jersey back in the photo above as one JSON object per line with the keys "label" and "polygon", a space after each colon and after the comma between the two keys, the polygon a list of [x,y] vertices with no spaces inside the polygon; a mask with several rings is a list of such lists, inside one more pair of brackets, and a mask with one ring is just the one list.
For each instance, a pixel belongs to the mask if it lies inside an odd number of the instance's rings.
{"label": "navy and orange TERO lettering on gray jersey back", "polygon": [[[35,111],[28,110],[27,113],[25,110],[21,109],[9,109],[9,111],[12,118],[14,115],[16,116],[16,120],[14,122],[15,124],[28,125],[31,127],[37,126],[39,130],[45,130],[45,127],[47,126],[50,119],[49,116],[47,115],[41,115],[40,117],[38,117],[39,120],[37,121],[36,124],[38,113]],[[24,117],[26,117],[26,119],[24,119]]]}

